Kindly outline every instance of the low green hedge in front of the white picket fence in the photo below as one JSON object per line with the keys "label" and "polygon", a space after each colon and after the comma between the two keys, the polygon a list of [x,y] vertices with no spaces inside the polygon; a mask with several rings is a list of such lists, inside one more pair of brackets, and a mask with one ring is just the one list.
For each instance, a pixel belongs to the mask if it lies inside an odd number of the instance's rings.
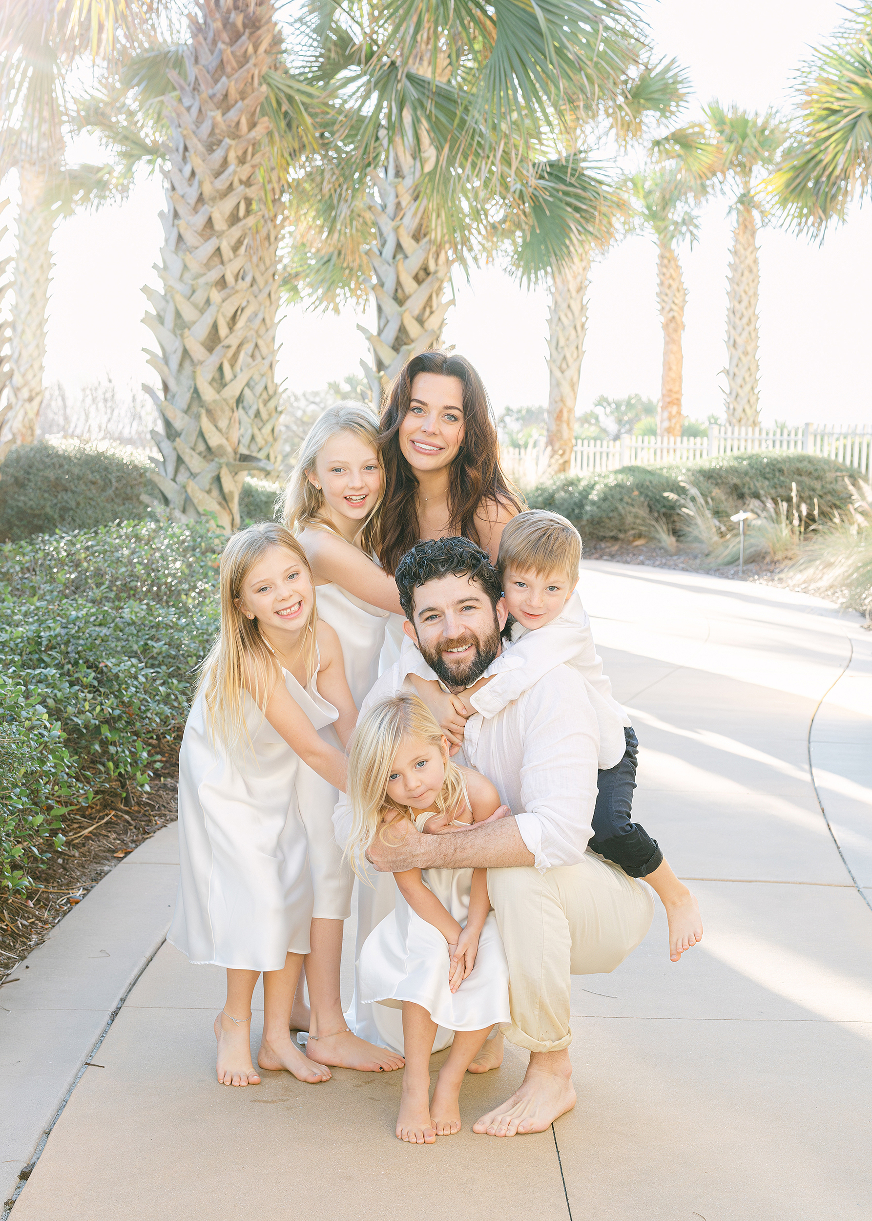
{"label": "low green hedge in front of the white picket fence", "polygon": [[666,493],[686,495],[681,480],[711,498],[716,515],[728,516],[752,499],[790,502],[791,482],[811,514],[815,497],[822,518],[850,503],[848,468],[830,458],[804,453],[730,454],[686,466],[622,466],[597,475],[562,475],[534,487],[531,509],[552,509],[585,538],[649,536],[661,523],[677,529],[681,515]]}

